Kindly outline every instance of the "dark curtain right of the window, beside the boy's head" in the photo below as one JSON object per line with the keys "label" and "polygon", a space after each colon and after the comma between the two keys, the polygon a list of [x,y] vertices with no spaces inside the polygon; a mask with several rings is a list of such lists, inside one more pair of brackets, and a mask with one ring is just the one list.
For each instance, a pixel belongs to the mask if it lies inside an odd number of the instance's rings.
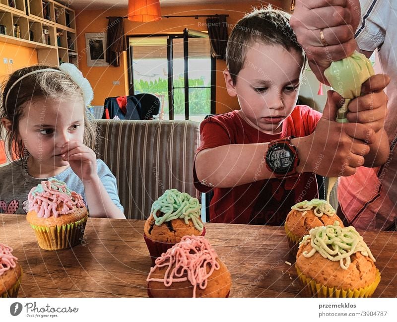
{"label": "dark curtain right of the window, beside the boy's head", "polygon": [[211,43],[211,55],[216,59],[226,60],[227,22],[224,14],[207,18],[207,30]]}

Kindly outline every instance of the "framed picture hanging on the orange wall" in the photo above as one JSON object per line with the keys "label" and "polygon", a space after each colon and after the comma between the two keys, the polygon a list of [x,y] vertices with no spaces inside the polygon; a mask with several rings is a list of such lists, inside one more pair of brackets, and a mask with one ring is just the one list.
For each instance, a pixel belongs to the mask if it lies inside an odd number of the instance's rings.
{"label": "framed picture hanging on the orange wall", "polygon": [[106,32],[85,34],[88,67],[109,66],[106,63],[106,38]]}

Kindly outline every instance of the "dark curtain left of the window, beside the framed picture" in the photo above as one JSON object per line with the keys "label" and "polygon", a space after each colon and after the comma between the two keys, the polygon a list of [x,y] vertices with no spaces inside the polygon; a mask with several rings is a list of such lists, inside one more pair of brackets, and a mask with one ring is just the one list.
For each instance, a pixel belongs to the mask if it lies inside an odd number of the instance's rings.
{"label": "dark curtain left of the window, beside the framed picture", "polygon": [[106,63],[116,67],[120,66],[120,56],[125,50],[127,50],[127,44],[124,36],[123,18],[109,17]]}

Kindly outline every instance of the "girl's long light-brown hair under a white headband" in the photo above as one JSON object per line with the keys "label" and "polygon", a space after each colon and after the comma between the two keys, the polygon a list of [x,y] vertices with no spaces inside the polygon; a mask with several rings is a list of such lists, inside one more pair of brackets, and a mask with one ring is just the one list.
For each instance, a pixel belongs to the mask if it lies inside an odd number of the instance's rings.
{"label": "girl's long light-brown hair under a white headband", "polygon": [[[30,72],[47,68],[51,69],[23,77]],[[23,79],[18,81],[21,77]],[[18,159],[27,156],[23,142],[18,138],[19,121],[24,116],[27,105],[37,99],[59,100],[76,96],[83,98],[81,88],[57,67],[34,65],[14,71],[4,81],[0,99],[0,118],[7,119],[11,123],[10,129],[5,131],[5,134],[0,133],[1,139],[6,143],[9,156],[14,155]],[[84,111],[83,144],[95,150],[96,125],[90,120],[88,112]]]}

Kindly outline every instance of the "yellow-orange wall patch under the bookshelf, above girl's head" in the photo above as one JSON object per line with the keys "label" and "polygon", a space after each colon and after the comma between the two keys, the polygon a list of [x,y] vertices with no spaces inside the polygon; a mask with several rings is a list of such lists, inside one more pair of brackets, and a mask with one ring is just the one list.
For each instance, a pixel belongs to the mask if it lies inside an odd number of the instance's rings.
{"label": "yellow-orange wall patch under the bookshelf, above girl's head", "polygon": [[[7,64],[4,64],[3,58],[7,59]],[[13,64],[9,64],[9,59],[13,60]],[[0,81],[16,69],[37,63],[35,49],[0,42]]]}

